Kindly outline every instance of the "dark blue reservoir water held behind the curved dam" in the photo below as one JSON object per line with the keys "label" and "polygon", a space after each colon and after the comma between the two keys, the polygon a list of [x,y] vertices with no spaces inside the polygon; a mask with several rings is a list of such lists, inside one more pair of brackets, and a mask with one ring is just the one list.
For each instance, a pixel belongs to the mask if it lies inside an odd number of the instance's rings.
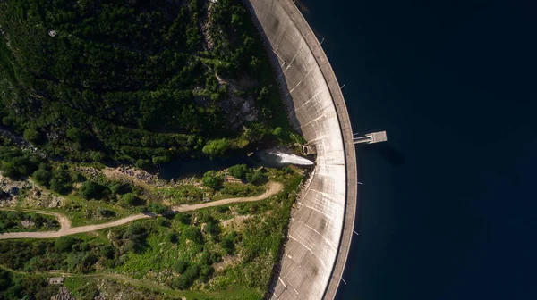
{"label": "dark blue reservoir water held behind the curved dam", "polygon": [[354,131],[386,129],[393,147],[358,150],[339,299],[537,299],[532,2],[303,5]]}

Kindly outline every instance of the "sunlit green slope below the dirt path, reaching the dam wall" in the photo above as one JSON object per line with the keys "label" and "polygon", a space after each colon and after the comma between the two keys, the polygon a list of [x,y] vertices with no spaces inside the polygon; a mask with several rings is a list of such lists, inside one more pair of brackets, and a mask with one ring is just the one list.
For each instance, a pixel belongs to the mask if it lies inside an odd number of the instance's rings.
{"label": "sunlit green slope below the dirt path, reaching the dam wall", "polygon": [[[244,289],[241,293],[250,295],[246,298],[258,299],[268,286],[301,180],[290,169],[270,169],[268,175],[284,182],[285,189],[260,202],[136,221],[91,235],[6,240],[0,242],[0,261],[16,271],[62,270],[88,276],[99,276],[104,268],[141,279],[133,284],[149,290],[171,293],[166,295],[191,295],[173,291],[192,290],[203,291],[202,298],[226,298]],[[155,283],[146,286],[146,281]],[[74,288],[81,293],[77,295],[93,295]]]}

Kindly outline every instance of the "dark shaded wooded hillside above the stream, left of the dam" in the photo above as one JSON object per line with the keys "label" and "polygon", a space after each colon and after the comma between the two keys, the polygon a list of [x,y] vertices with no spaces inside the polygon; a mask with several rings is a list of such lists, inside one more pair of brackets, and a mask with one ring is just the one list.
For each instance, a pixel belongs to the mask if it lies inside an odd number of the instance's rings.
{"label": "dark shaded wooded hillside above the stream, left of the dam", "polygon": [[0,3],[3,128],[73,161],[168,162],[289,139],[239,0]]}

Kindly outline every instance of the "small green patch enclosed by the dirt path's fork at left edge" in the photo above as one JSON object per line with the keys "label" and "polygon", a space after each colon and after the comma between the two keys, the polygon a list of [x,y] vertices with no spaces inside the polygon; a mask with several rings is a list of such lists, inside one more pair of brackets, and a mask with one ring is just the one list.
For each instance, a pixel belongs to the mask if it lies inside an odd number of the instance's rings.
{"label": "small green patch enclosed by the dirt path's fork at left edge", "polygon": [[[22,222],[27,226],[23,226]],[[0,233],[21,231],[55,231],[60,224],[54,217],[33,212],[0,211]]]}

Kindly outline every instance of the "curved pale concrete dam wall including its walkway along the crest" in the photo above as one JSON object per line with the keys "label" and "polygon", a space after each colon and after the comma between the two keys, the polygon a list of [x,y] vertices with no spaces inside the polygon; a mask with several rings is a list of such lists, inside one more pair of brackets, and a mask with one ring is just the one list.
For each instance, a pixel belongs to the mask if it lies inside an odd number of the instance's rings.
{"label": "curved pale concrete dam wall including its walkway along the crest", "polygon": [[353,132],[336,76],[291,0],[249,0],[277,69],[289,117],[317,148],[311,182],[292,212],[272,299],[333,299],[345,269],[356,210]]}

